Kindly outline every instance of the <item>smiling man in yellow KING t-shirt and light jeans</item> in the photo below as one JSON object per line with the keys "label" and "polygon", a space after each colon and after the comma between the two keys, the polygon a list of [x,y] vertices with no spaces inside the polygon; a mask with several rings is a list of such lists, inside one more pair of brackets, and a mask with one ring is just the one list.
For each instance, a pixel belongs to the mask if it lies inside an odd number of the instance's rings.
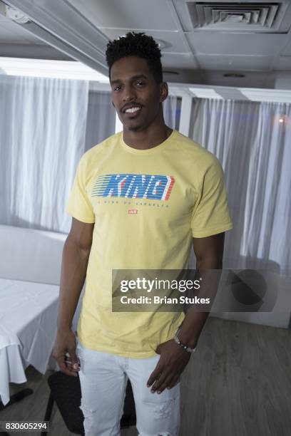
{"label": "smiling man in yellow KING t-shirt and light jeans", "polygon": [[[178,435],[180,375],[208,313],[112,312],[112,270],[185,269],[192,242],[198,269],[220,269],[232,228],[220,163],[165,125],[160,56],[143,33],[108,43],[123,133],[83,155],[67,207],[54,356],[80,377],[86,436],[120,435],[128,378],[139,435]],[[71,322],[85,277],[76,350]]]}

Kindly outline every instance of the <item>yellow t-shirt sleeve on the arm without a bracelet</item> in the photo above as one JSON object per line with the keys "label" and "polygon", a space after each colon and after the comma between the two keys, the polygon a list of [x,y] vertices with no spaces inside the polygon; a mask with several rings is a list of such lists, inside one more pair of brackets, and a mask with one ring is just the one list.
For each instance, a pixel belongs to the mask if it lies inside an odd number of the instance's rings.
{"label": "yellow t-shirt sleeve on the arm without a bracelet", "polygon": [[71,215],[71,217],[78,219],[78,221],[93,223],[95,222],[95,214],[88,194],[87,179],[86,160],[83,155],[78,164],[71,194],[68,198],[66,212]]}

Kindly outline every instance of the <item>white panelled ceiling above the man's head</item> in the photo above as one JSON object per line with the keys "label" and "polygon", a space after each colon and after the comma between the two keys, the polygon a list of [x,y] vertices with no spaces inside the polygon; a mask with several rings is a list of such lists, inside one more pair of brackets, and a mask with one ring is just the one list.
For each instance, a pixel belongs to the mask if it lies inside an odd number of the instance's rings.
{"label": "white panelled ceiling above the man's head", "polygon": [[[9,19],[4,4],[30,21]],[[106,74],[108,39],[131,30],[159,41],[170,83],[291,89],[290,0],[0,1],[0,56],[76,59]]]}

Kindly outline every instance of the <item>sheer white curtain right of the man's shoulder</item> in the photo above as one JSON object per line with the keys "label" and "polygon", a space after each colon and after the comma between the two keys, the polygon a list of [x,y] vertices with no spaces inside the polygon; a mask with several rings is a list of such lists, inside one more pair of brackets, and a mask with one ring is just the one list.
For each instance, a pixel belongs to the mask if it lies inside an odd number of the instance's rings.
{"label": "sheer white curtain right of the man's shoulder", "polygon": [[195,99],[191,136],[225,170],[234,228],[224,267],[290,275],[291,105]]}

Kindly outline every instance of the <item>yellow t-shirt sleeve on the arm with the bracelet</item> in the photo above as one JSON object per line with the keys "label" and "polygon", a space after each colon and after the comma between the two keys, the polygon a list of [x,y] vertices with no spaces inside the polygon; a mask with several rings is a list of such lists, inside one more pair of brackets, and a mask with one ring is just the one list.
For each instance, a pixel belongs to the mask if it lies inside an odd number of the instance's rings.
{"label": "yellow t-shirt sleeve on the arm with the bracelet", "polygon": [[201,178],[200,194],[191,218],[193,237],[203,238],[233,228],[228,208],[223,168],[214,155]]}

